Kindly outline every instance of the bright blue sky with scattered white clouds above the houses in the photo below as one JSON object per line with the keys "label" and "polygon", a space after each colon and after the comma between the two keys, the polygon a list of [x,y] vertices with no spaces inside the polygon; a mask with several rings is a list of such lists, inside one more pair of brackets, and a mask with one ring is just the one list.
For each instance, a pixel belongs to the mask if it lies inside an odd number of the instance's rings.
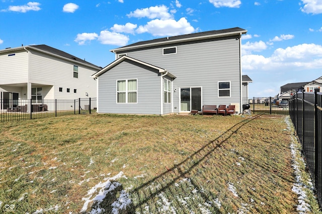
{"label": "bright blue sky with scattered white clouds above the houses", "polygon": [[234,27],[248,30],[249,97],[322,76],[322,0],[0,0],[0,49],[45,44],[101,67],[111,49]]}

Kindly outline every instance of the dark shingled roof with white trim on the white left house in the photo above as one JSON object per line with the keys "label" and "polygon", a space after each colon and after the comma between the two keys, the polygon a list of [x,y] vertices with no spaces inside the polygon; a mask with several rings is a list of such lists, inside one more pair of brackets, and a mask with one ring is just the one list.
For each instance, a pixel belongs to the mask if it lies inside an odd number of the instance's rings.
{"label": "dark shingled roof with white trim on the white left house", "polygon": [[30,45],[30,46],[21,46],[18,48],[7,48],[4,50],[0,50],[0,53],[6,53],[6,52],[12,52],[12,51],[18,51],[18,50],[24,50],[24,49],[25,50],[36,50],[36,51],[39,51],[39,52],[42,52],[42,53],[45,53],[45,54],[48,54],[51,56],[55,56],[58,58],[62,58],[62,59],[68,60],[68,61],[73,61],[73,62],[76,61],[79,64],[83,64],[83,65],[86,65],[88,67],[92,67],[97,70],[101,69],[101,67],[99,67],[97,65],[94,65],[94,64],[89,63],[85,60],[82,60],[78,57],[75,57],[73,55],[70,55],[66,52],[60,51],[58,49],[52,48],[47,45]]}

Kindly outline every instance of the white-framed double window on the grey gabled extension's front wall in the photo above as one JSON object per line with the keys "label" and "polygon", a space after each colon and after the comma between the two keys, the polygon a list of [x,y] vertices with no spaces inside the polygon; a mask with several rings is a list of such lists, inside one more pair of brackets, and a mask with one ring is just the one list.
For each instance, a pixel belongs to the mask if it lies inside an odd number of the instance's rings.
{"label": "white-framed double window on the grey gabled extension's front wall", "polygon": [[117,103],[137,102],[137,80],[117,81]]}

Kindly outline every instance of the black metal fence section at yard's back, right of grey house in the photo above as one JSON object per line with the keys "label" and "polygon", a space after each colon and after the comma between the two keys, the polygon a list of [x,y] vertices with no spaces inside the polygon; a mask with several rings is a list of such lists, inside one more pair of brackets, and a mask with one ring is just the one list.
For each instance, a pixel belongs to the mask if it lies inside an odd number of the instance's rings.
{"label": "black metal fence section at yard's back, right of grey house", "polygon": [[243,105],[249,104],[253,113],[288,114],[288,105],[280,105],[281,101],[273,97],[253,97],[244,98]]}

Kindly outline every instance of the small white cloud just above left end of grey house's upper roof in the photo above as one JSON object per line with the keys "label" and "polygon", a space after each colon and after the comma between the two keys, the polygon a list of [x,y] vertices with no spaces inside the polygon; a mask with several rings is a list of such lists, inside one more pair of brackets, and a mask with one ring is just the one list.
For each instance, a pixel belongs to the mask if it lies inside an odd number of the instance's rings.
{"label": "small white cloud just above left end of grey house's upper roof", "polygon": [[98,40],[104,45],[125,46],[129,41],[129,37],[123,34],[109,32],[105,30],[101,31]]}

